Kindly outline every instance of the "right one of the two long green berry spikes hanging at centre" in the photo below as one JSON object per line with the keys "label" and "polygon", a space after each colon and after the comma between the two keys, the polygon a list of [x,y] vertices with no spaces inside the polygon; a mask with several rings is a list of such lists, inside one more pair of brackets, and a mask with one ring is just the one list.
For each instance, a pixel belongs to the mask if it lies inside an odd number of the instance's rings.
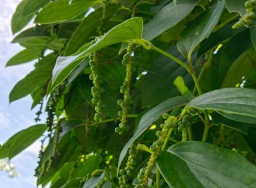
{"label": "right one of the two long green berry spikes hanging at centre", "polygon": [[131,75],[132,75],[132,67],[131,67],[131,52],[132,52],[133,44],[129,44],[127,48],[127,53],[123,56],[122,64],[125,65],[126,68],[126,77],[123,85],[120,88],[120,92],[124,94],[123,100],[120,99],[117,101],[117,104],[121,106],[122,110],[119,111],[119,116],[121,117],[121,124],[119,127],[115,128],[115,132],[122,134],[123,131],[129,130],[129,125],[127,125],[127,113],[131,108],[129,105],[133,103],[133,99],[129,93],[130,91],[130,83],[131,83]]}

